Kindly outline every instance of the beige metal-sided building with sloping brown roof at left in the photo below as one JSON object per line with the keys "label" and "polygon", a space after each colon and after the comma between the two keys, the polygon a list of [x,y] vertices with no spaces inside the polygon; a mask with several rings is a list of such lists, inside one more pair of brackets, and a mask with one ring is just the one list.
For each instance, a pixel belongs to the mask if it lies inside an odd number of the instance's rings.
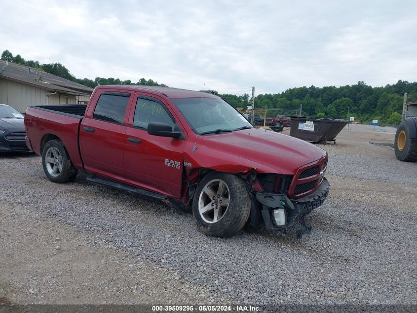
{"label": "beige metal-sided building with sloping brown roof at left", "polygon": [[0,103],[22,113],[31,105],[87,104],[92,92],[36,68],[0,60]]}

